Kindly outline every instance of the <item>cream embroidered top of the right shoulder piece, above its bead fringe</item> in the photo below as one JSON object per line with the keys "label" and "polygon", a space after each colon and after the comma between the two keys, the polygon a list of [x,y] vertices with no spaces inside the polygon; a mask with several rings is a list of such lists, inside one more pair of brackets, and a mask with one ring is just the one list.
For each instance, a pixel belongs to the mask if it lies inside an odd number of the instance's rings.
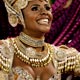
{"label": "cream embroidered top of the right shoulder piece, above its bead fringe", "polygon": [[57,61],[63,61],[68,57],[76,56],[79,52],[73,48],[66,45],[54,46],[52,45],[54,53],[53,56]]}

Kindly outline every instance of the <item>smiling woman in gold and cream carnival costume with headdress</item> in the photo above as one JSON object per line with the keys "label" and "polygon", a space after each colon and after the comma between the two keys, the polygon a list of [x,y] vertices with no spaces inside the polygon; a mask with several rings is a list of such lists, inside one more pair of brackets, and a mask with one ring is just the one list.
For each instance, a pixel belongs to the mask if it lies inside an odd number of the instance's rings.
{"label": "smiling woman in gold and cream carnival costume with headdress", "polygon": [[20,34],[14,32],[18,35],[14,37],[13,32],[7,32],[8,38],[1,40],[1,80],[49,80],[53,76],[54,80],[60,80],[64,72],[79,75],[80,54],[77,50],[44,42],[44,35],[49,32],[53,19],[48,0],[3,1],[8,13],[8,26],[12,26],[9,30],[17,31],[15,27],[20,26]]}

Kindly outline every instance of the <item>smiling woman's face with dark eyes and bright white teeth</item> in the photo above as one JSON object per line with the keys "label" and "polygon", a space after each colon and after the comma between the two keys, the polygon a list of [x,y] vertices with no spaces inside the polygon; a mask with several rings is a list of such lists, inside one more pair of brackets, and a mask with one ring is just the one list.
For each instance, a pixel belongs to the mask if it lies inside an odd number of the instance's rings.
{"label": "smiling woman's face with dark eyes and bright white teeth", "polygon": [[28,34],[46,33],[52,22],[51,7],[45,0],[32,0],[22,10]]}

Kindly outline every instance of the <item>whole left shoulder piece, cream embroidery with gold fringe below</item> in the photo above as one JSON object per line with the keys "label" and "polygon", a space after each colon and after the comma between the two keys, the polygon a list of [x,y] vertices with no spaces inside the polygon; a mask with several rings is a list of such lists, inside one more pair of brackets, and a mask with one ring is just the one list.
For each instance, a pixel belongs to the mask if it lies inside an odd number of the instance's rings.
{"label": "whole left shoulder piece, cream embroidery with gold fringe below", "polygon": [[13,61],[13,47],[10,39],[0,40],[0,69],[8,72]]}

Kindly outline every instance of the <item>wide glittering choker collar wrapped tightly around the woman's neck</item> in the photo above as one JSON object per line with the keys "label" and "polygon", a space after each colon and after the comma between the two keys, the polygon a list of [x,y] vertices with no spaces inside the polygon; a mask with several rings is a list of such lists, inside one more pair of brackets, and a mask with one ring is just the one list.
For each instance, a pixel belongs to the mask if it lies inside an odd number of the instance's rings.
{"label": "wide glittering choker collar wrapped tightly around the woman's neck", "polygon": [[24,43],[32,47],[42,47],[44,46],[44,38],[41,39],[34,39],[30,37],[29,35],[26,35],[25,33],[21,32],[19,39]]}

